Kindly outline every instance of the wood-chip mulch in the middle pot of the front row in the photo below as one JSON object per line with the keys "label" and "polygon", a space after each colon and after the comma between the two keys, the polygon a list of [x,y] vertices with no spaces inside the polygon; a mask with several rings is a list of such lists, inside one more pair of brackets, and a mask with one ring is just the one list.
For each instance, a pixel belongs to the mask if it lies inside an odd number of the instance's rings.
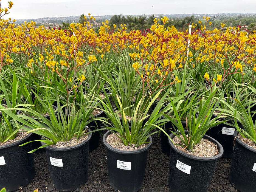
{"label": "wood-chip mulch in the middle pot of the front row", "polygon": [[111,133],[106,138],[106,142],[113,148],[120,149],[123,151],[135,151],[135,150],[142,149],[147,146],[146,144],[142,144],[138,147],[136,147],[136,144],[132,144],[131,146],[129,146],[129,145],[126,146],[123,144],[122,140],[117,136],[117,134]]}

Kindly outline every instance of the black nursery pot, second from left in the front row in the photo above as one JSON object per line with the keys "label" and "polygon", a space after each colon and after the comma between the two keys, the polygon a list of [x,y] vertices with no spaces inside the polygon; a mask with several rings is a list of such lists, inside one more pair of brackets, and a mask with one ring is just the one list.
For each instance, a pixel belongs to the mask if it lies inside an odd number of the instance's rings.
{"label": "black nursery pot, second from left in the front row", "polygon": [[[92,134],[89,133],[85,141],[71,147],[45,147],[50,176],[57,190],[73,191],[87,182],[91,136]],[[41,142],[41,144],[45,143]]]}

